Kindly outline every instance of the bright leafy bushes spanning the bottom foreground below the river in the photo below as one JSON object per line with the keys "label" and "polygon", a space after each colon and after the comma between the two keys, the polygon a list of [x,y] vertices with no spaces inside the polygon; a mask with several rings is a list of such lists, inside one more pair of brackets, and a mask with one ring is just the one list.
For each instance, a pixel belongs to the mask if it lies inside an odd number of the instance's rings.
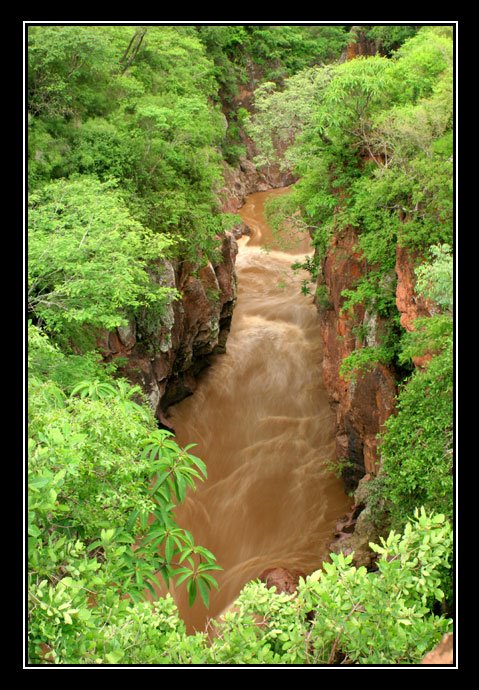
{"label": "bright leafy bushes spanning the bottom foreground below the river", "polygon": [[[42,614],[34,635],[51,641],[37,649],[35,661],[411,664],[450,630],[451,621],[432,610],[444,598],[452,544],[451,526],[440,514],[416,512],[404,534],[391,532],[372,545],[376,572],[331,554],[332,562],[301,579],[293,595],[249,583],[234,608],[212,623],[212,639],[186,634],[169,595],[154,603],[120,598],[108,586],[111,552],[103,539],[105,560],[87,559],[78,543],[56,587],[39,579],[32,588],[34,610]],[[86,583],[94,587],[94,604]]]}

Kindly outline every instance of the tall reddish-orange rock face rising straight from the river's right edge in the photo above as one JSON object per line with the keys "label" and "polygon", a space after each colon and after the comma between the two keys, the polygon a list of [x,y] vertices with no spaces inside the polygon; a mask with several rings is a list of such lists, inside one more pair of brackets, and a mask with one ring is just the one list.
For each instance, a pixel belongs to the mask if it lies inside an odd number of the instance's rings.
{"label": "tall reddish-orange rock face rising straight from the river's right edge", "polygon": [[392,371],[377,365],[371,372],[358,377],[356,383],[346,382],[339,375],[342,360],[360,346],[353,328],[369,319],[373,340],[384,328],[374,323],[362,307],[355,307],[354,319],[341,313],[344,298],[341,292],[354,287],[365,271],[366,263],[356,250],[357,234],[346,228],[335,238],[324,263],[324,281],[329,307],[318,309],[323,339],[323,376],[336,408],[336,458],[351,463],[343,472],[346,488],[354,489],[365,473],[377,474],[377,434],[394,409],[396,382]]}

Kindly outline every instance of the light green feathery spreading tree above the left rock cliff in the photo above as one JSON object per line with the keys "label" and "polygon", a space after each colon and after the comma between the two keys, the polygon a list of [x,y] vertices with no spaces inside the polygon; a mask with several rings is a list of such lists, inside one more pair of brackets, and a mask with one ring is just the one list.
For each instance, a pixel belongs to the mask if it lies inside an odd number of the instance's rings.
{"label": "light green feathery spreading tree above the left rock cliff", "polygon": [[173,239],[133,220],[113,183],[59,180],[30,196],[28,305],[51,331],[112,329],[142,306],[161,310],[175,291],[149,267]]}

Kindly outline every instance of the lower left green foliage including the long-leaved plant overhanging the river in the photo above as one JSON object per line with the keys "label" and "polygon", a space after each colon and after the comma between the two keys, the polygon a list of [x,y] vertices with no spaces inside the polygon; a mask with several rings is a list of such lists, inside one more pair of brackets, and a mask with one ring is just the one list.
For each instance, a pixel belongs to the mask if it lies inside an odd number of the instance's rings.
{"label": "lower left green foliage including the long-leaved plant overhanging the river", "polygon": [[159,576],[206,604],[216,586],[214,556],[173,518],[206,467],[156,429],[138,387],[32,325],[29,374],[30,658],[47,645],[52,661],[111,662],[95,634],[110,606],[126,610],[147,588],[156,596]]}

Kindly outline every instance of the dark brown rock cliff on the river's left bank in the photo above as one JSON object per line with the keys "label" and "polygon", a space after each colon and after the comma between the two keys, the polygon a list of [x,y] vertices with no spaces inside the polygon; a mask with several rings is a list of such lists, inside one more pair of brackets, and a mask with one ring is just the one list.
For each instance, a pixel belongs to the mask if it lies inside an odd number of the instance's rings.
{"label": "dark brown rock cliff on the river's left bank", "polygon": [[160,282],[176,288],[181,299],[167,307],[153,328],[131,321],[105,333],[100,343],[106,359],[126,358],[121,372],[142,387],[165,426],[168,407],[191,395],[196,376],[213,355],[225,351],[236,299],[237,251],[233,235],[225,233],[215,265],[195,271],[184,262],[164,261],[158,267]]}

